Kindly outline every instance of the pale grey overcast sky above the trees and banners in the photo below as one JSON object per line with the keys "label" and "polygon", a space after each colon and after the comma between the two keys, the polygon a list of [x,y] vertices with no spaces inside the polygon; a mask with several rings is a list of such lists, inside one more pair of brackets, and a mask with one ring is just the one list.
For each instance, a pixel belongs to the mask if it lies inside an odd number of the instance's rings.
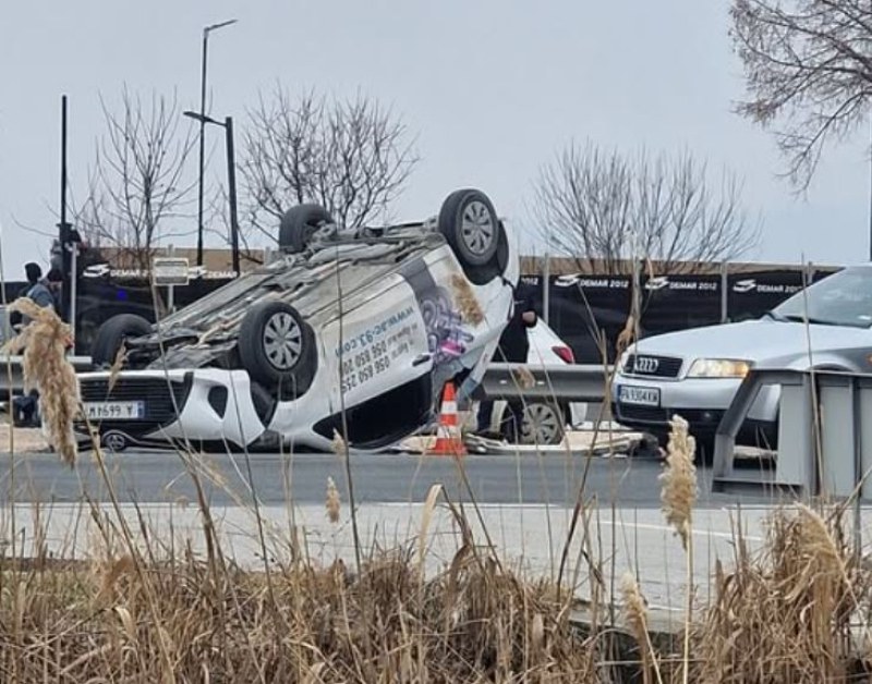
{"label": "pale grey overcast sky above the trees and banners", "polygon": [[[746,184],[763,236],[751,260],[821,264],[869,253],[870,172],[860,135],[829,149],[796,197],[772,138],[731,112],[741,71],[715,0],[318,0],[5,2],[0,11],[0,223],[7,278],[48,259],[59,206],[60,98],[70,98],[73,190],[84,185],[102,118],[124,86],[178,93],[198,109],[203,26],[211,114],[244,125],[277,82],[390,105],[417,134],[421,162],[398,218],[434,213],[473,185],[528,228],[537,168],[573,137],[632,151],[688,148]],[[210,129],[210,143],[220,143]],[[216,147],[209,173],[222,172]],[[196,173],[196,156],[191,158]],[[81,191],[80,191],[81,192]],[[191,225],[194,227],[195,219]],[[177,241],[178,243],[179,241]],[[190,242],[193,245],[195,237]],[[532,242],[531,242],[532,244]]]}

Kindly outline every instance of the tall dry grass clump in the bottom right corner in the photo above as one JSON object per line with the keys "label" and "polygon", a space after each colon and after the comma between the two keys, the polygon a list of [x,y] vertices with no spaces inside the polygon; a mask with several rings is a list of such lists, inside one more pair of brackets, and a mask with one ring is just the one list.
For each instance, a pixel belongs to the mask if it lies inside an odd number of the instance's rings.
{"label": "tall dry grass clump in the bottom right corner", "polygon": [[734,567],[718,563],[712,602],[691,630],[693,681],[869,681],[860,637],[872,573],[844,529],[838,511],[825,520],[799,505],[773,514],[758,554],[738,539]]}

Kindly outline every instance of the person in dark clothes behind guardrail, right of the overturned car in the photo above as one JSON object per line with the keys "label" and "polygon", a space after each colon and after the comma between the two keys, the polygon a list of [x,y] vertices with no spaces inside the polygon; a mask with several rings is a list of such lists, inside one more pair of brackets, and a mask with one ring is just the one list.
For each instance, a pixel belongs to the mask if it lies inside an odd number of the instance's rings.
{"label": "person in dark clothes behind guardrail, right of the overturned car", "polygon": [[[530,340],[526,331],[536,325],[538,314],[533,304],[532,288],[519,283],[514,290],[514,305],[512,315],[502,334],[499,338],[495,363],[525,364],[530,353]],[[521,435],[521,424],[524,417],[524,405],[522,400],[510,400],[508,403],[508,432],[511,441],[518,442]],[[477,432],[487,432],[491,426],[491,413],[494,410],[494,402],[485,400],[479,404]],[[505,418],[504,418],[505,425]]]}

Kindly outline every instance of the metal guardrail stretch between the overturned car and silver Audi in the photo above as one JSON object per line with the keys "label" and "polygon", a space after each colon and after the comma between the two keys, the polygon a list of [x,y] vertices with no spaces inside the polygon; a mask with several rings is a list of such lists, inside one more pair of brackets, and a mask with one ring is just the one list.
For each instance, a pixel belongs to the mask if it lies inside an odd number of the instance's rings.
{"label": "metal guardrail stretch between the overturned car and silver Audi", "polygon": [[[520,370],[525,368],[534,379],[524,387]],[[491,364],[473,399],[555,399],[568,402],[602,402],[610,366],[566,364],[530,366],[526,364]]]}

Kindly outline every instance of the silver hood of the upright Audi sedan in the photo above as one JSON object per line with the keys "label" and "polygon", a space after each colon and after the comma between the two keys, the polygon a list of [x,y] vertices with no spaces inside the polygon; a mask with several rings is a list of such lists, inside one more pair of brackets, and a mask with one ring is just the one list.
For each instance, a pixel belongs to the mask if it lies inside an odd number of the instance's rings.
{"label": "silver hood of the upright Audi sedan", "polygon": [[683,358],[741,358],[756,365],[779,365],[813,353],[872,351],[872,330],[848,326],[804,326],[761,319],[692,328],[644,338],[632,353]]}

